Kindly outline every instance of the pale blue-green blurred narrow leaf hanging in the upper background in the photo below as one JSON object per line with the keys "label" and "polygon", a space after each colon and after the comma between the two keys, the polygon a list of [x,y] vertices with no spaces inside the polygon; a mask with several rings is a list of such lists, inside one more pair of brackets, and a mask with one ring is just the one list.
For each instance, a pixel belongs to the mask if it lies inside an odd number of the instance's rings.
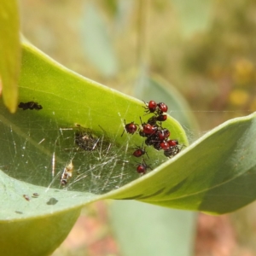
{"label": "pale blue-green blurred narrow leaf hanging in the upper background", "polygon": [[84,6],[84,16],[80,23],[85,56],[104,76],[113,76],[118,70],[113,38],[110,37],[108,26],[94,3]]}

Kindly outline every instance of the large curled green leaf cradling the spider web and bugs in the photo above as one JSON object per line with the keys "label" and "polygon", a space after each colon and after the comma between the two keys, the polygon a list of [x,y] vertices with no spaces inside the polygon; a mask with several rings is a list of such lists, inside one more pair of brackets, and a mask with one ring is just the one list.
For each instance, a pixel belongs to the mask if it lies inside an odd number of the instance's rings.
{"label": "large curled green leaf cradling the spider web and bugs", "polygon": [[[0,192],[5,209],[0,217],[2,230],[9,229],[10,221],[25,223],[15,234],[3,232],[3,252],[9,250],[6,241],[18,241],[32,220],[34,232],[40,230],[41,236],[47,236],[49,229],[38,225],[40,219],[50,217],[53,234],[59,230],[64,237],[61,230],[68,232],[74,221],[67,219],[63,229],[65,215],[75,216],[86,203],[102,199],[101,194],[108,195],[108,191],[144,178],[137,174],[137,160],[132,159],[133,148],[141,145],[143,138],[126,133],[121,137],[124,119],[136,123],[140,122],[139,116],[144,121],[148,119],[143,116],[143,102],[68,71],[29,44],[23,44],[19,102],[37,102],[35,106],[43,108],[19,108],[13,115],[0,102]],[[80,128],[75,124],[89,128],[93,136],[99,137],[96,150],[77,150],[74,137]],[[187,144],[175,119],[169,117],[166,127]],[[152,160],[147,163],[152,168],[166,161],[163,153],[153,148],[148,149],[148,155]],[[73,177],[62,187],[61,175],[71,161]],[[34,198],[33,193],[39,196]],[[28,237],[20,243],[36,250],[38,240],[34,237],[34,241]],[[51,251],[60,240],[44,241],[44,248],[37,254]]]}

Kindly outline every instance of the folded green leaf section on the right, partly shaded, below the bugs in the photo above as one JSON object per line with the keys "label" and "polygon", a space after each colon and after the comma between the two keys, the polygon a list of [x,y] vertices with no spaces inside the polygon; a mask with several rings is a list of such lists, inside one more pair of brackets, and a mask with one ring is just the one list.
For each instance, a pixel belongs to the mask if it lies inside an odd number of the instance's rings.
{"label": "folded green leaf section on the right, partly shaded, below the bugs", "polygon": [[110,197],[215,214],[247,205],[256,197],[255,116],[219,125],[161,165],[160,172],[156,168],[140,183],[133,183],[132,191],[123,187]]}

